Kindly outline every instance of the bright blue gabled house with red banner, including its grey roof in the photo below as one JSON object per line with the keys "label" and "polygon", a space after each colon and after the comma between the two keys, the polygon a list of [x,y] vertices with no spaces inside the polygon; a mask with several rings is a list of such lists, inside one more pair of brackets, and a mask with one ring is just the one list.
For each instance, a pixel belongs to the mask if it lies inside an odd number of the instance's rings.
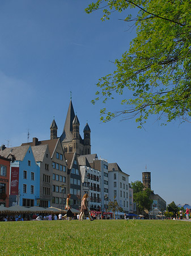
{"label": "bright blue gabled house with red banner, including its grey roof", "polygon": [[9,205],[37,205],[40,198],[40,167],[31,146],[5,148],[0,154],[11,159]]}

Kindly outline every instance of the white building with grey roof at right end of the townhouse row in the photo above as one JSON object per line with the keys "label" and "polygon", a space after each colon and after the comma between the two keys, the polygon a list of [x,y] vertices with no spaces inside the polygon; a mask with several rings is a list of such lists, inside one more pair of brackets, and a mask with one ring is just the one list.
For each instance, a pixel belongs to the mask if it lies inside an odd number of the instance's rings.
{"label": "white building with grey roof at right end of the townhouse row", "polygon": [[108,164],[109,199],[129,213],[129,175],[122,172],[117,163]]}

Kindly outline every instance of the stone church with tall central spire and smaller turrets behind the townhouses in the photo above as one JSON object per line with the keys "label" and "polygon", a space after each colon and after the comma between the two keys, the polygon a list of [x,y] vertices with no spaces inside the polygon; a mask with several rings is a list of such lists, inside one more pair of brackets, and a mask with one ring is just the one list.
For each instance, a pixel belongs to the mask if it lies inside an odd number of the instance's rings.
{"label": "stone church with tall central spire and smaller turrets behind the townhouses", "polygon": [[[86,123],[83,129],[83,139],[79,133],[79,120],[77,115],[74,114],[73,104],[70,100],[69,109],[67,110],[67,116],[63,132],[60,136],[60,141],[65,153],[76,152],[77,155],[89,155],[91,154],[91,130]],[[53,120],[50,126],[50,139],[56,139],[58,127],[55,120]]]}

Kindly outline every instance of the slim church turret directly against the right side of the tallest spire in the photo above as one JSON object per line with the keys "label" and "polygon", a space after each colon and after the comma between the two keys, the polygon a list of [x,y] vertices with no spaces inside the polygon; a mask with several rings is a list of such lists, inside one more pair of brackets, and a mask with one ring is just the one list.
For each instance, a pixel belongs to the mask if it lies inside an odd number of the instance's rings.
{"label": "slim church turret directly against the right side of the tallest spire", "polygon": [[[75,115],[73,120],[73,146],[69,146],[69,152],[76,152],[77,155],[80,155],[80,135],[79,135],[79,120],[77,115]],[[73,147],[73,148],[71,148]]]}

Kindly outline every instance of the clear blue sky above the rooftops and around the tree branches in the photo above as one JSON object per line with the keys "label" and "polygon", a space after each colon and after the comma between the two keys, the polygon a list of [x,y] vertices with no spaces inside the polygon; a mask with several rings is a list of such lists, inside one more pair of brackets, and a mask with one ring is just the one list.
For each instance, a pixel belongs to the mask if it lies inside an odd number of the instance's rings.
{"label": "clear blue sky above the rooftops and around the tree branches", "polygon": [[[150,171],[151,189],[167,204],[191,204],[190,123],[160,126],[156,116],[145,130],[134,119],[100,123],[103,104],[91,104],[96,82],[114,71],[112,61],[129,48],[135,30],[119,20],[123,13],[106,22],[99,11],[86,14],[90,2],[0,1],[0,143],[19,146],[28,129],[29,141],[49,139],[53,117],[61,135],[71,91],[81,135],[87,121],[91,128],[92,154],[117,162],[129,181]],[[108,106],[121,109],[117,100]]]}

